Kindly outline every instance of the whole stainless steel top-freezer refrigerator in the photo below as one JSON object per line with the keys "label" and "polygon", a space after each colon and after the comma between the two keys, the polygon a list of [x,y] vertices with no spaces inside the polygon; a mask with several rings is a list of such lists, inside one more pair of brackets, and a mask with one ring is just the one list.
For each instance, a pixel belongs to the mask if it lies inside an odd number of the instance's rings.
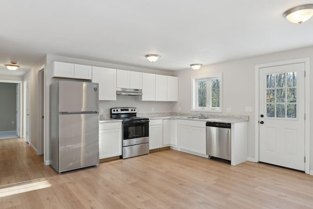
{"label": "whole stainless steel top-freezer refrigerator", "polygon": [[99,164],[98,84],[50,85],[51,167],[57,172]]}

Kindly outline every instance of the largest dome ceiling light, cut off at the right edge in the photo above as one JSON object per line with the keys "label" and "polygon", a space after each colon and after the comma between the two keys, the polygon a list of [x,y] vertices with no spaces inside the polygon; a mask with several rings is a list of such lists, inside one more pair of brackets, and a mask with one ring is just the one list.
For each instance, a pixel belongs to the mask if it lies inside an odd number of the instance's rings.
{"label": "largest dome ceiling light, cut off at the right edge", "polygon": [[283,16],[292,23],[301,24],[313,16],[313,4],[293,7],[284,12]]}

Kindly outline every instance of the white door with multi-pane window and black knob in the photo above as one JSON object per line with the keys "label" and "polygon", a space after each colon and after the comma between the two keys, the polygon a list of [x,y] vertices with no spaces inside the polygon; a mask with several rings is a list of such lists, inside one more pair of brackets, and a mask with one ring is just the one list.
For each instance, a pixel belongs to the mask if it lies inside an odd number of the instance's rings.
{"label": "white door with multi-pane window and black knob", "polygon": [[304,170],[305,63],[259,73],[259,161]]}

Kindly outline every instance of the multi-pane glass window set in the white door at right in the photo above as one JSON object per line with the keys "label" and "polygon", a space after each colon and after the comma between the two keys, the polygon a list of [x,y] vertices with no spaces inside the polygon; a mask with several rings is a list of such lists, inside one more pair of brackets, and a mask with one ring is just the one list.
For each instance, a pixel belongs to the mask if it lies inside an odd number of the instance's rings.
{"label": "multi-pane glass window set in the white door at right", "polygon": [[296,72],[266,76],[266,116],[268,118],[296,118]]}

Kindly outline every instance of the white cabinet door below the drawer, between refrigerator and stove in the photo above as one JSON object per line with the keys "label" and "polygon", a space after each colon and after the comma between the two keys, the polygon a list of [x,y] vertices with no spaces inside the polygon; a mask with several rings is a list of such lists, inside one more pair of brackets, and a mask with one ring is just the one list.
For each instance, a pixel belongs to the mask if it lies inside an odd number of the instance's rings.
{"label": "white cabinet door below the drawer, between refrigerator and stove", "polygon": [[122,155],[122,129],[99,130],[99,159]]}

